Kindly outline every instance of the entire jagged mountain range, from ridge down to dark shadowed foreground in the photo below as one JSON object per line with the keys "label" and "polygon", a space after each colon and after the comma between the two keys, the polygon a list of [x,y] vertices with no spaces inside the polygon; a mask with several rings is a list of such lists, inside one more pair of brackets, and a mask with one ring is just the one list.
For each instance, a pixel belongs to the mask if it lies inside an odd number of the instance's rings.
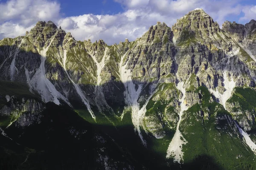
{"label": "entire jagged mountain range, from ridge down to dark shadowed foreground", "polygon": [[255,169],[255,30],[196,8],[133,42],[1,40],[0,166]]}

